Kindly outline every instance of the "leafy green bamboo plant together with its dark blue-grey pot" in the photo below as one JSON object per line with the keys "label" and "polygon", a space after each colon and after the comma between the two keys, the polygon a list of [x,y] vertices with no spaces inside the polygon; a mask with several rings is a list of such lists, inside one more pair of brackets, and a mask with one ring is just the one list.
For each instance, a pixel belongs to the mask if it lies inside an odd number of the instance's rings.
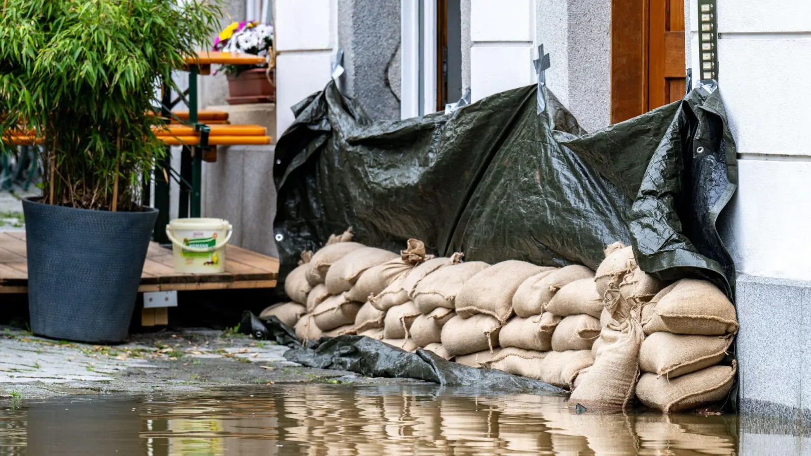
{"label": "leafy green bamboo plant together with its dark blue-grey pot", "polygon": [[157,217],[140,183],[165,154],[156,91],[220,14],[206,0],[0,2],[0,138],[38,138],[44,168],[43,196],[23,203],[34,333],[127,338]]}

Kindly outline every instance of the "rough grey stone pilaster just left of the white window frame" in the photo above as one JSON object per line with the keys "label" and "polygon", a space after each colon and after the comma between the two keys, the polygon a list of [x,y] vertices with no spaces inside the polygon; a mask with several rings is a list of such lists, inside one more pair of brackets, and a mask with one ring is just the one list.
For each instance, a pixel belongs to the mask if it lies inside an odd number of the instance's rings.
{"label": "rough grey stone pilaster just left of the white window frame", "polygon": [[400,0],[341,0],[338,41],[346,95],[371,118],[400,118]]}

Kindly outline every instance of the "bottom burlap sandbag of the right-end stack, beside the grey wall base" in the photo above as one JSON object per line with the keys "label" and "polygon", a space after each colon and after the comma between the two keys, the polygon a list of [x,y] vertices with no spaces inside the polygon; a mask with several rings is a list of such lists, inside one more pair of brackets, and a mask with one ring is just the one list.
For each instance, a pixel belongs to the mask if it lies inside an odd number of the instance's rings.
{"label": "bottom burlap sandbag of the right-end stack, beside the grey wall base", "polygon": [[637,398],[646,407],[664,413],[705,407],[727,398],[735,372],[736,363],[732,361],[732,366],[712,366],[670,379],[645,373],[639,378]]}

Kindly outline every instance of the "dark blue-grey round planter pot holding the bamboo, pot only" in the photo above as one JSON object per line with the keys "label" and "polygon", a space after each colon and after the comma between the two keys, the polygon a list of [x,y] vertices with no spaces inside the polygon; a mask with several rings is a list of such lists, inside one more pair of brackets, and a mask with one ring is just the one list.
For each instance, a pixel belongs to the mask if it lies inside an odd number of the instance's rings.
{"label": "dark blue-grey round planter pot holding the bamboo, pot only", "polygon": [[29,199],[23,210],[33,333],[125,340],[158,211],[95,211]]}

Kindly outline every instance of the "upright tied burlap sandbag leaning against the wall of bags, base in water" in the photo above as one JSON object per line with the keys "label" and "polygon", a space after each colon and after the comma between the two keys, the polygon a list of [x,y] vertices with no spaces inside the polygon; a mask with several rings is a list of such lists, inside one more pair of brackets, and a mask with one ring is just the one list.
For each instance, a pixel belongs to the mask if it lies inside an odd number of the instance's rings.
{"label": "upright tied burlap sandbag leaning against the wall of bags, base in water", "polygon": [[594,365],[569,398],[587,408],[624,410],[633,402],[639,377],[639,346],[645,335],[633,316],[619,325],[607,325],[600,333]]}

